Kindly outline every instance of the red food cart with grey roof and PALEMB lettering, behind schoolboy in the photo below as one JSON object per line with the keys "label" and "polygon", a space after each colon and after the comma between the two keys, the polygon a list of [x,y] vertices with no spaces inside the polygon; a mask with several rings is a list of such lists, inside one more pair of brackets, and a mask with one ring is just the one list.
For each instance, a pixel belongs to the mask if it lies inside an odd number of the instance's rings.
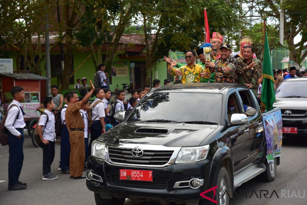
{"label": "red food cart with grey roof and PALEMB lettering, behind schoolboy", "polygon": [[32,135],[33,126],[38,122],[40,112],[36,109],[46,97],[46,80],[48,78],[32,73],[0,73],[0,97],[3,108],[6,110],[13,101],[11,89],[14,86],[23,87],[25,100],[21,107],[25,112],[25,129]]}

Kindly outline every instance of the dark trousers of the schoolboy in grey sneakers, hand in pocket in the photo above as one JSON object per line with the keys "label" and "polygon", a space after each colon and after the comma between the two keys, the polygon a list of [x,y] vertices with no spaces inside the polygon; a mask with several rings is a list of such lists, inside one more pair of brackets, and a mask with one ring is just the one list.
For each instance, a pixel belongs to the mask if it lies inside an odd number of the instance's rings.
{"label": "dark trousers of the schoolboy in grey sneakers, hand in pocket", "polygon": [[54,142],[49,141],[49,144],[43,144],[43,175],[51,173],[51,164],[54,159]]}

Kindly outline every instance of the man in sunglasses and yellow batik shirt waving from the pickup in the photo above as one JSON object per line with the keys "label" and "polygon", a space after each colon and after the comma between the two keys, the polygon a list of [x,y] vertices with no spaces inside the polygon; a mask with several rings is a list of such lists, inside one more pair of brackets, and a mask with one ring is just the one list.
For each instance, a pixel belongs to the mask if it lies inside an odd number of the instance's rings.
{"label": "man in sunglasses and yellow batik shirt waving from the pickup", "polygon": [[[167,59],[167,57],[164,57]],[[185,61],[188,65],[181,66],[180,68],[173,68],[171,61],[168,62],[168,70],[172,76],[182,76],[182,83],[196,83],[200,82],[201,78],[207,76],[209,78],[210,73],[206,72],[202,65],[195,63],[196,53],[193,50],[185,52]]]}

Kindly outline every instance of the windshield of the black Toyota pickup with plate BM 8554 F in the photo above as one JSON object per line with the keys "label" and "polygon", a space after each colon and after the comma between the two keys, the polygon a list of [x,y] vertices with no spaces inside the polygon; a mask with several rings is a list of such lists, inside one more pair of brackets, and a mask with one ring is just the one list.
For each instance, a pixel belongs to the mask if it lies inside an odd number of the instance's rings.
{"label": "windshield of the black Toyota pickup with plate BM 8554 F", "polygon": [[[220,124],[222,95],[216,93],[148,93],[127,122],[178,123],[203,121]],[[204,124],[204,123],[203,123]]]}

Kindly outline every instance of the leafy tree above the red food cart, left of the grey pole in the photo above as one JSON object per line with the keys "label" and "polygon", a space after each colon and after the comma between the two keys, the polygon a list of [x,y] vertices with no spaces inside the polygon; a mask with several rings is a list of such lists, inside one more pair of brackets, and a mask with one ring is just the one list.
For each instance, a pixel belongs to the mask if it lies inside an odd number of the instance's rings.
{"label": "leafy tree above the red food cart, left of the grey pole", "polygon": [[[13,1],[1,3],[1,46],[10,50],[16,57],[17,73],[29,68],[31,73],[38,74],[45,53],[41,50],[43,39],[44,2]],[[36,37],[33,38],[33,35]],[[23,59],[23,67],[20,68]]]}

